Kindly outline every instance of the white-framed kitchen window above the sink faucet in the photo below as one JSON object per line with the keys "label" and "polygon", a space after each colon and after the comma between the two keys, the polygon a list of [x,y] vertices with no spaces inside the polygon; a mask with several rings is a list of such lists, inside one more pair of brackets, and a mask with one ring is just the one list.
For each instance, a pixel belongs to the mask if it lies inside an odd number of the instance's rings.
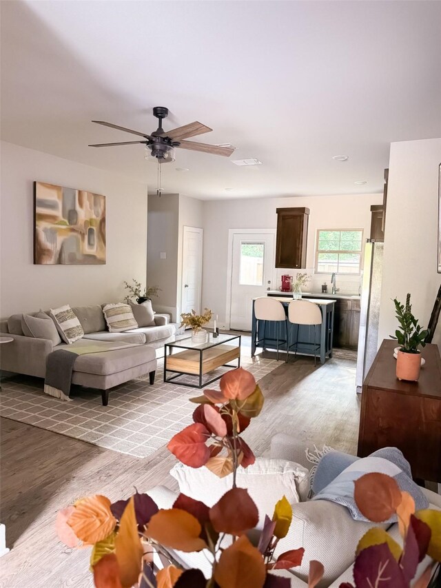
{"label": "white-framed kitchen window above the sink faucet", "polygon": [[362,229],[318,230],[316,272],[360,274]]}

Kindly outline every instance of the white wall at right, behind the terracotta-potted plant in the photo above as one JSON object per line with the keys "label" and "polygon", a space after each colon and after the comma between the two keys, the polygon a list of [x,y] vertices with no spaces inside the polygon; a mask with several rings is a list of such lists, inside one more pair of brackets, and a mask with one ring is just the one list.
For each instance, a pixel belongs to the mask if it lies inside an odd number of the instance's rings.
{"label": "white wall at right, behind the terracotta-potted plant", "polygon": [[[441,283],[437,272],[438,166],[441,139],[391,143],[378,343],[397,327],[391,298],[411,293],[427,327]],[[441,324],[433,343],[441,343]]]}

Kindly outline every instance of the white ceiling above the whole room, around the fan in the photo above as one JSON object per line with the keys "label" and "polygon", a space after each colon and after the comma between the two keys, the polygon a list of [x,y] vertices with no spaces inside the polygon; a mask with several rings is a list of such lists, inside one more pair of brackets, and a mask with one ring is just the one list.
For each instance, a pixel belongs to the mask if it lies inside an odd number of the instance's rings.
{"label": "white ceiling above the whole room, around the fan", "polygon": [[143,145],[88,148],[136,137],[90,121],[152,132],[163,105],[263,161],[176,150],[167,192],[381,192],[391,141],[441,136],[440,25],[438,1],[3,1],[2,139],[153,189]]}

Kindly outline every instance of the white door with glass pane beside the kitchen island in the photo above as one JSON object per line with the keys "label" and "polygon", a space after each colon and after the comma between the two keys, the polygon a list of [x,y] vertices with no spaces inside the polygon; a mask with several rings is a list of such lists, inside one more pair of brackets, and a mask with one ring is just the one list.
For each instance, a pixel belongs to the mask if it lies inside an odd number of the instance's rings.
{"label": "white door with glass pane beside the kitchen island", "polygon": [[230,328],[251,331],[252,298],[266,296],[274,280],[275,233],[235,233]]}

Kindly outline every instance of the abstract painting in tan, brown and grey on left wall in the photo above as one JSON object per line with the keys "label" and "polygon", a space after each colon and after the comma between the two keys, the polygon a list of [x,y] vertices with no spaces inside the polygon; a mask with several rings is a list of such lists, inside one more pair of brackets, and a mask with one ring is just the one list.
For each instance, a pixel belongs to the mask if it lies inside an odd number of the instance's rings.
{"label": "abstract painting in tan, brown and grey on left wall", "polygon": [[105,196],[34,182],[34,263],[105,263]]}

